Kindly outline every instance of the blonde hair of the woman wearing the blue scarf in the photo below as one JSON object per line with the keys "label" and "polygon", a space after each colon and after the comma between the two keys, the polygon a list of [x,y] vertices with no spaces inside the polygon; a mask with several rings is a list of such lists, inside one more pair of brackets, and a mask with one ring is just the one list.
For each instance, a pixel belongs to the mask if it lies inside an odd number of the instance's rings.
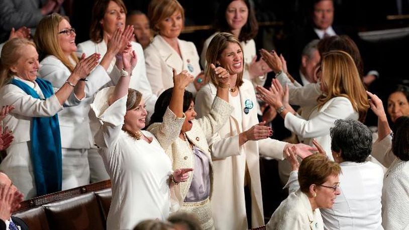
{"label": "blonde hair of the woman wearing the blue scarf", "polygon": [[15,75],[10,68],[19,61],[27,45],[36,48],[32,41],[25,38],[14,38],[4,44],[0,58],[0,88],[8,84]]}

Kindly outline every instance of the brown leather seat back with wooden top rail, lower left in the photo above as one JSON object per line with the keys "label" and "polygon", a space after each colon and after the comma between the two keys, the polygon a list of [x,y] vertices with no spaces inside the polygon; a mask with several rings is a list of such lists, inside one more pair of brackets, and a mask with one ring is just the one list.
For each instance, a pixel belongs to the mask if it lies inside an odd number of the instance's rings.
{"label": "brown leather seat back with wooden top rail, lower left", "polygon": [[101,181],[22,202],[13,216],[30,230],[106,229],[111,181]]}

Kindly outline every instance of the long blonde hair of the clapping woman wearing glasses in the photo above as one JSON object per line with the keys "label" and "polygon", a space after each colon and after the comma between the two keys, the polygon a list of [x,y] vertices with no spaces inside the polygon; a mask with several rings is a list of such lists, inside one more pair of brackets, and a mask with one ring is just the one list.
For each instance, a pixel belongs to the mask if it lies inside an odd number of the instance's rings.
{"label": "long blonde hair of the clapping woman wearing glasses", "polygon": [[[53,55],[72,72],[74,71],[75,65],[64,55],[58,42],[58,26],[64,19],[69,22],[68,17],[61,16],[57,13],[44,17],[37,26],[34,42],[37,45],[37,50],[41,58],[47,55]],[[78,57],[74,52],[70,54],[70,57],[74,60],[75,64],[78,63]]]}

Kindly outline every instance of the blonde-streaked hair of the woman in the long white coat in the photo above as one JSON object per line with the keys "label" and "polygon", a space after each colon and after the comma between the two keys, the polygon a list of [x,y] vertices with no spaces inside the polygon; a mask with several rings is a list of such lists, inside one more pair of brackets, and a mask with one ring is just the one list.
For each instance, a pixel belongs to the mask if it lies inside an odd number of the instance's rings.
{"label": "blonde-streaked hair of the woman in the long white coat", "polygon": [[[212,41],[210,41],[208,51],[206,52],[206,61],[208,64],[206,65],[206,72],[205,76],[210,77],[210,80],[213,84],[217,85],[217,76],[215,72],[210,68],[210,64],[216,65],[217,62],[220,61],[220,57],[223,51],[227,48],[230,43],[235,43],[239,45],[240,49],[243,51],[239,40],[230,33],[219,33],[217,34]],[[224,66],[222,66],[224,67]],[[243,53],[243,71],[244,71],[244,53]],[[236,86],[240,87],[243,84],[243,71],[237,74]]]}

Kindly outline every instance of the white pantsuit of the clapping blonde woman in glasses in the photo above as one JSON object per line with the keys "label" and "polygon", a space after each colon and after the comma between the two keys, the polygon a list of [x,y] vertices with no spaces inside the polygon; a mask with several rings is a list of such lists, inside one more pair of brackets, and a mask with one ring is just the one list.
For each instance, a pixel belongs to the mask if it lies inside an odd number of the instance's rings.
{"label": "white pantsuit of the clapping blonde woman in glasses", "polygon": [[[55,56],[41,61],[40,77],[51,82],[58,90],[65,84],[71,71]],[[62,188],[70,189],[89,183],[88,149],[93,147],[93,135],[89,126],[89,104],[93,94],[111,81],[105,69],[98,65],[87,77],[85,98],[76,106],[58,113],[62,148]],[[107,172],[104,179],[109,179]]]}

